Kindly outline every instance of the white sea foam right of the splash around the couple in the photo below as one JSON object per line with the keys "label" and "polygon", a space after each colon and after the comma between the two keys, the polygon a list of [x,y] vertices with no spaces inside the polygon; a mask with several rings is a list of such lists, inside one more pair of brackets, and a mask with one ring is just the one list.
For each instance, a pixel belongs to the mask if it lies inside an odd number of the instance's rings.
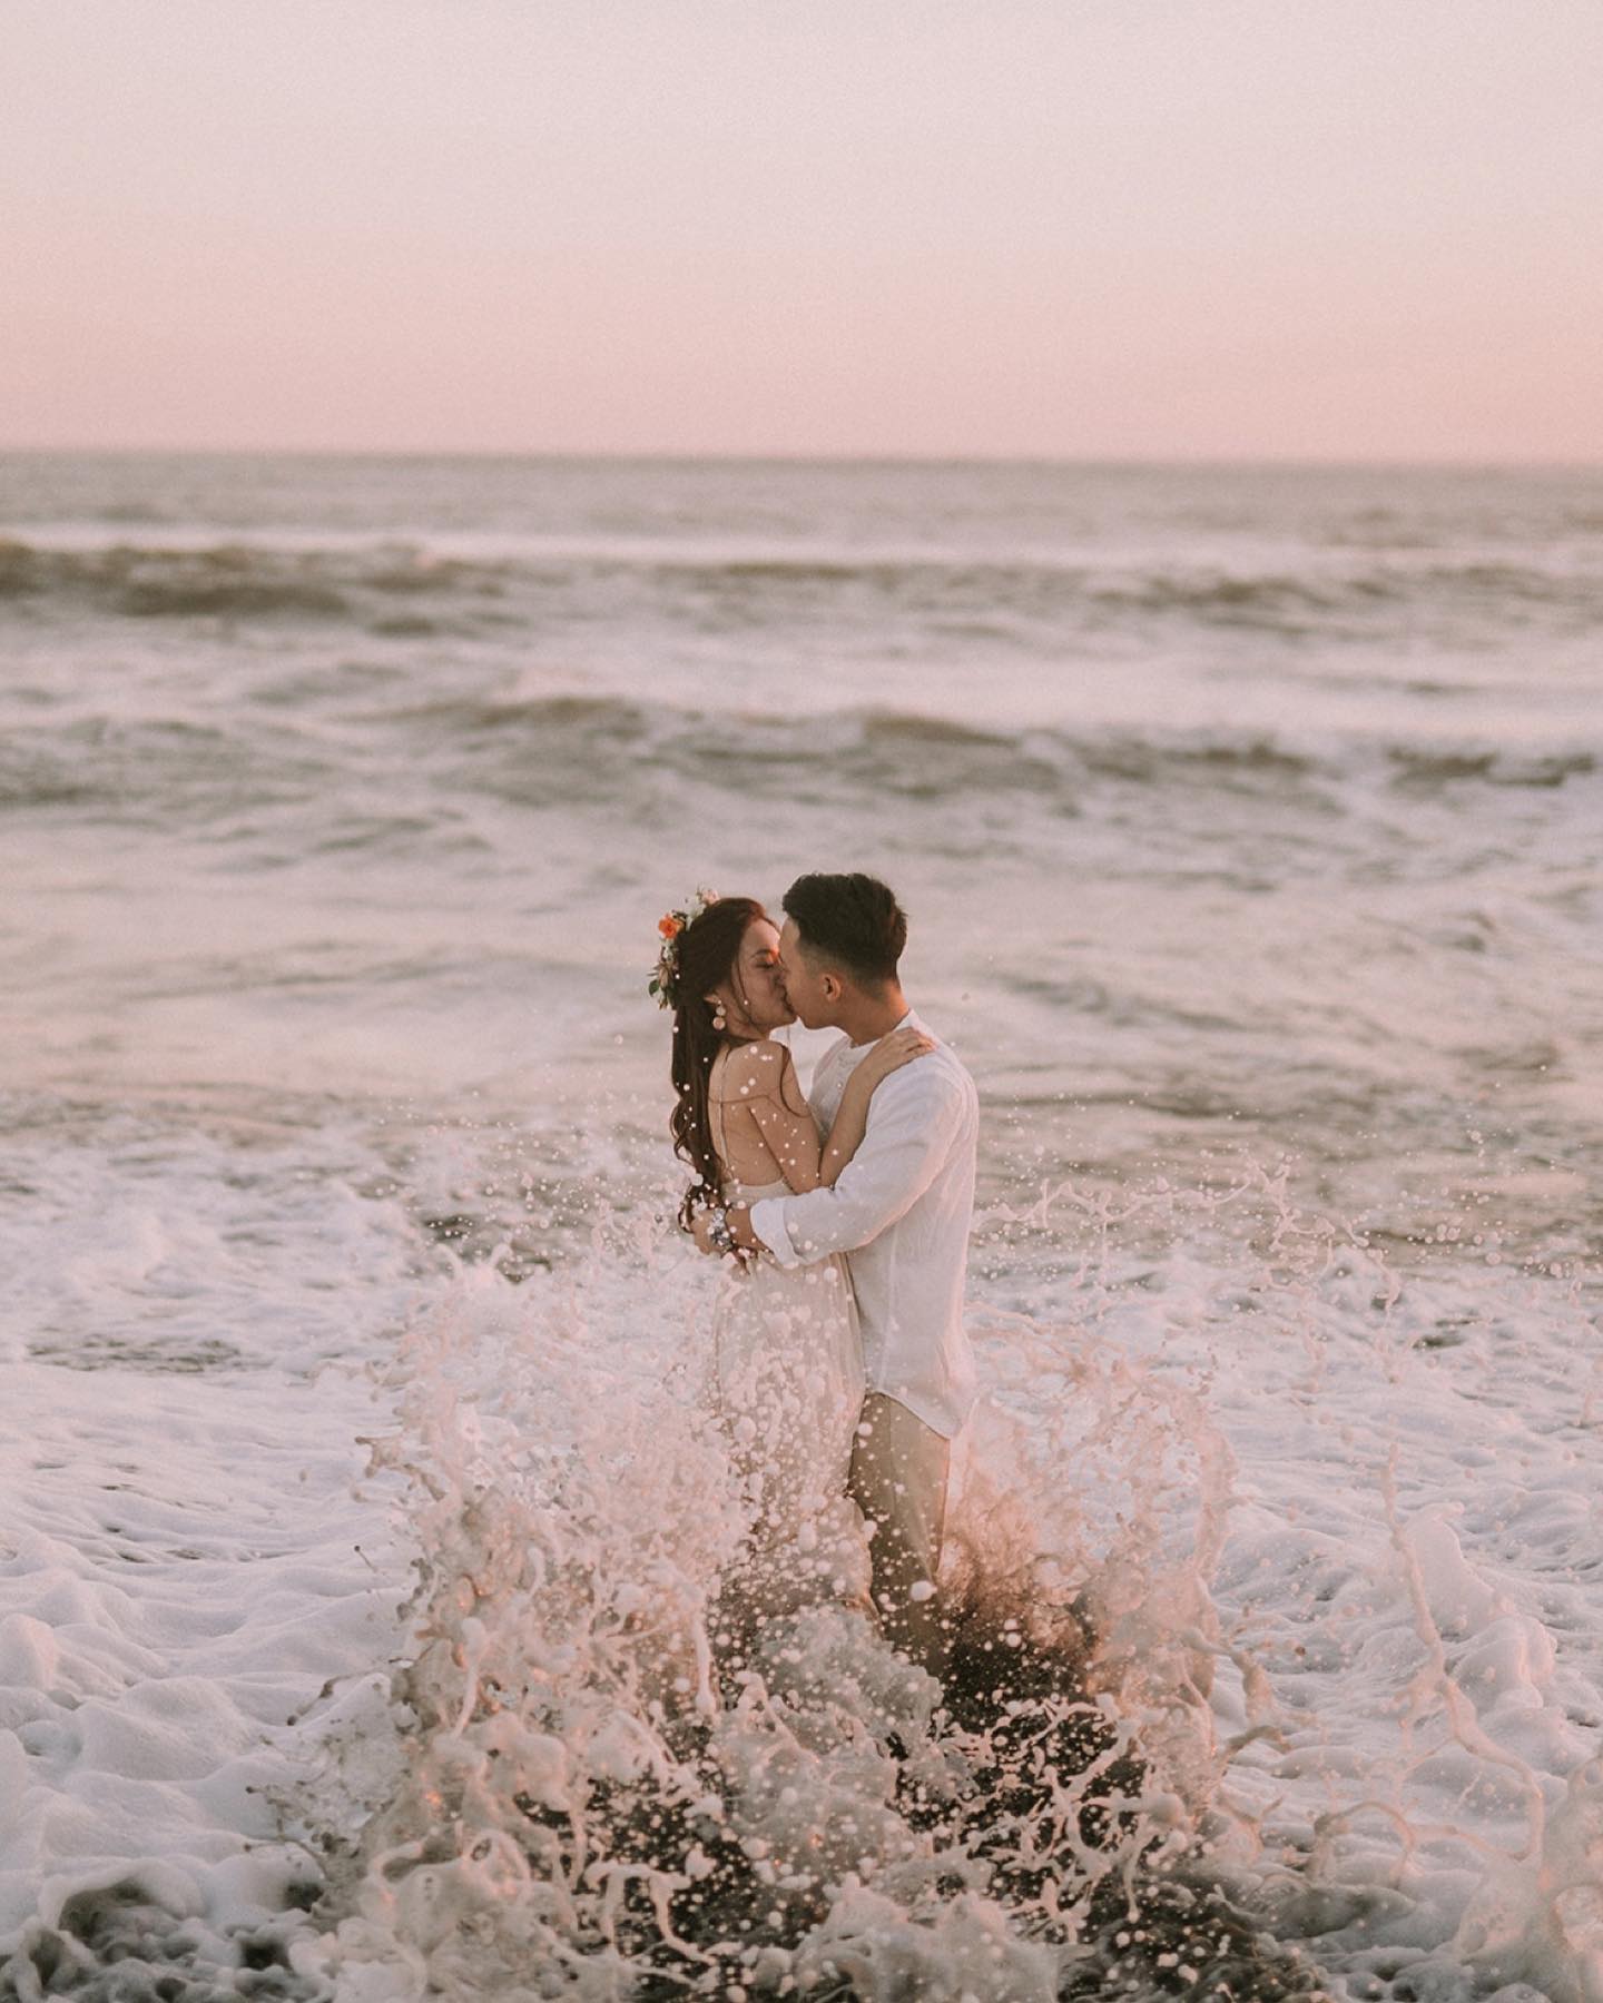
{"label": "white sea foam right of the splash around the couple", "polygon": [[[1355,1983],[1407,1971],[1419,1995],[1525,1981],[1591,2003],[1585,1308],[1495,1268],[1399,1278],[1351,1244],[1246,1302],[1240,1274],[1196,1258],[1170,1278],[1156,1312],[1112,1312],[1156,1368],[1206,1374],[1240,1464],[1214,1590],[1236,1652],[1214,1705],[1242,1741],[1220,1855],[1250,1859],[1280,1925]],[[1457,1340],[1427,1346],[1443,1328]]]}

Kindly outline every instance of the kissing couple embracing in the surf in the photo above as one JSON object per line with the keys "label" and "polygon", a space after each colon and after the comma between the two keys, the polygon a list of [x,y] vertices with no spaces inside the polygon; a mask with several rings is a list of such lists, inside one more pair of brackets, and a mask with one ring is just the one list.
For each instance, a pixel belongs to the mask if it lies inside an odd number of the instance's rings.
{"label": "kissing couple embracing in the surf", "polygon": [[[908,919],[870,875],[804,875],[783,929],[697,891],[661,919],[673,1010],[679,1220],[723,1256],[717,1416],[753,1530],[727,1592],[747,1620],[862,1594],[938,1671],[952,1440],[974,1404],[964,1272],[978,1096],[908,1006]],[[804,1098],[773,1032],[838,1030]],[[858,1584],[854,1584],[858,1580]]]}

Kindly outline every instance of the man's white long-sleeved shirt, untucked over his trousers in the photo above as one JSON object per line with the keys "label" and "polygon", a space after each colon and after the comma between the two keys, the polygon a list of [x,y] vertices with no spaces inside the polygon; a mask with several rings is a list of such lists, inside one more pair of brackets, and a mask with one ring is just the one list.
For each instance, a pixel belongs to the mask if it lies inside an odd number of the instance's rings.
{"label": "man's white long-sleeved shirt, untucked over his trousers", "polygon": [[[902,1022],[926,1030],[912,1012]],[[826,1134],[870,1050],[844,1036],[820,1058],[808,1104]],[[974,1080],[938,1042],[876,1090],[862,1146],[832,1190],[751,1206],[751,1230],[781,1266],[848,1254],[868,1388],[948,1440],[974,1406],[964,1274],[978,1138]]]}

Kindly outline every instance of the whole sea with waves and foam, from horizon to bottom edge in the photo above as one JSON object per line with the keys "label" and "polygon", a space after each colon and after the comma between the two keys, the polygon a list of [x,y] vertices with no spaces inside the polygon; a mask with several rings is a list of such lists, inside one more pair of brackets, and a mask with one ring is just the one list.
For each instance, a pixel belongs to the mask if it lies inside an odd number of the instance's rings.
{"label": "whole sea with waves and foam, from horizon to bottom edge", "polygon": [[[0,635],[0,1993],[1603,1997],[1595,473],[10,457]],[[707,1642],[655,919],[848,867],[962,1691]]]}

